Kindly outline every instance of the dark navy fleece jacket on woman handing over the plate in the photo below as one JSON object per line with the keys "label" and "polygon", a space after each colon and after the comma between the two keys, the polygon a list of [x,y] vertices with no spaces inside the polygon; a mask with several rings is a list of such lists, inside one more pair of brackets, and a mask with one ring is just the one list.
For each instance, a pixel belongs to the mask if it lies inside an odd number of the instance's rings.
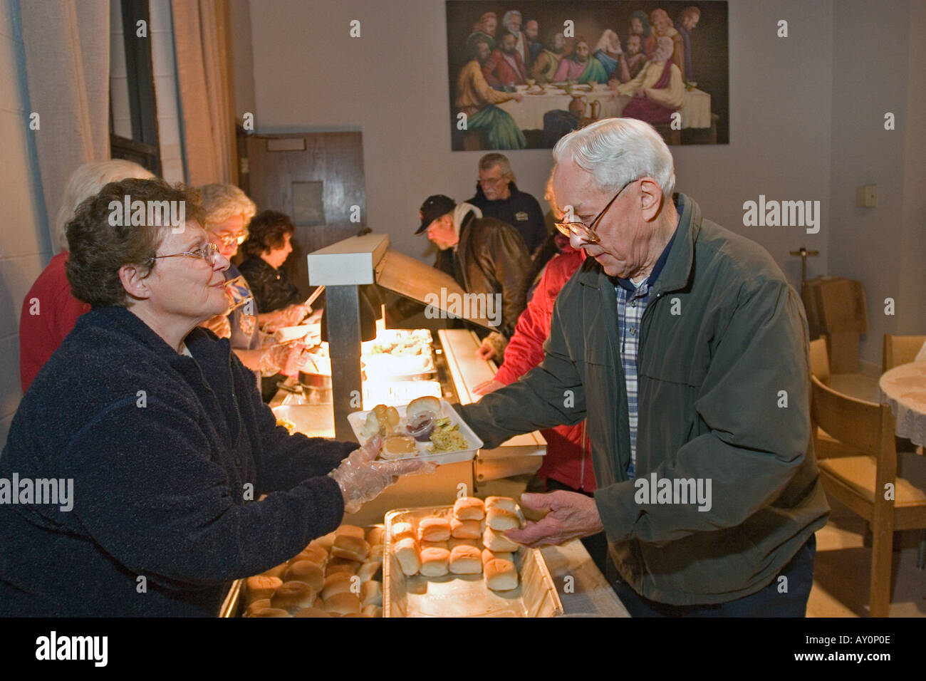
{"label": "dark navy fleece jacket on woman handing over the plate", "polygon": [[228,340],[186,345],[96,308],[39,372],[0,478],[70,478],[73,509],[0,504],[0,616],[215,616],[341,522],[325,473],[357,445],[287,435]]}

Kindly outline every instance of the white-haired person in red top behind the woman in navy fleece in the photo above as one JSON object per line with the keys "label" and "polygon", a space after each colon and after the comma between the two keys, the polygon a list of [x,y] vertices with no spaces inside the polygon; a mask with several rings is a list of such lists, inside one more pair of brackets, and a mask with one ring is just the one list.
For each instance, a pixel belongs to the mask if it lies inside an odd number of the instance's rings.
{"label": "white-haired person in red top behind the woman in navy fleece", "polygon": [[62,250],[49,261],[22,301],[22,313],[19,315],[19,383],[23,394],[29,389],[35,374],[74,328],[77,318],[90,311],[89,305],[70,295],[70,284],[65,274],[69,256],[65,225],[74,216],[74,211],[83,199],[99,194],[106,184],[153,177],[153,173],[137,163],[120,158],[84,163],[71,173],[53,228],[56,246]]}

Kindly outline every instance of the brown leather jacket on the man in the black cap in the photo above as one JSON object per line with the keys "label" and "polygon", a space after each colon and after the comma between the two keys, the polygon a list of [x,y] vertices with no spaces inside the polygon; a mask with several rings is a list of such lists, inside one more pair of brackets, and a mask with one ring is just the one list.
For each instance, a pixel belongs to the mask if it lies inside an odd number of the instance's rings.
{"label": "brown leather jacket on the man in the black cap", "polygon": [[[454,254],[451,273],[464,291],[502,296],[501,322],[494,330],[510,338],[527,305],[532,273],[531,257],[519,234],[507,222],[476,218],[470,211],[460,224],[457,247],[442,254],[448,252]],[[439,257],[439,268],[440,262]]]}

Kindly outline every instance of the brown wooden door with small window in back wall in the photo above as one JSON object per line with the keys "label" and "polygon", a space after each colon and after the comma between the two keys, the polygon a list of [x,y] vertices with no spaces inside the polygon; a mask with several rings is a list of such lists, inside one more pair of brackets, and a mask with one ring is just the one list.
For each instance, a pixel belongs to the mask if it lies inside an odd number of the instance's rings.
{"label": "brown wooden door with small window in back wall", "polygon": [[355,236],[367,222],[360,132],[249,135],[242,186],[257,204],[295,223],[293,254],[285,267],[308,296],[307,254]]}

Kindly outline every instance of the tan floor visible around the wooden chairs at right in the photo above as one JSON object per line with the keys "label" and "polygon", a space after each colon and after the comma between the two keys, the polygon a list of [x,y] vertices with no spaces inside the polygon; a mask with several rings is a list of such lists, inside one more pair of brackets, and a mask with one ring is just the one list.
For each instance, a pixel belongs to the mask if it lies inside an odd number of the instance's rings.
{"label": "tan floor visible around the wooden chairs at right", "polygon": [[[873,399],[877,377],[835,374],[831,385],[847,395]],[[830,522],[817,533],[814,584],[807,617],[867,617],[871,548],[864,546],[864,522],[842,504],[831,502]],[[926,617],[926,570],[917,568],[920,531],[895,535],[894,595],[891,617]]]}

